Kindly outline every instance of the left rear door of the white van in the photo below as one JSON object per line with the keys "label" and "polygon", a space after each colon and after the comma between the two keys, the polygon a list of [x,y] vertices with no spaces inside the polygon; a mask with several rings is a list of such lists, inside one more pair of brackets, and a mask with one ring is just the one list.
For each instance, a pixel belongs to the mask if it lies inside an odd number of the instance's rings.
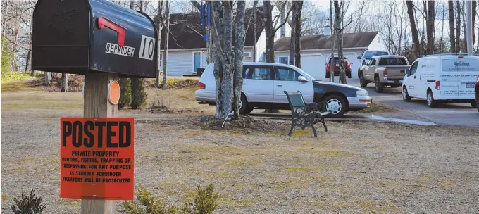
{"label": "left rear door of the white van", "polygon": [[440,94],[445,99],[456,98],[459,91],[459,85],[457,84],[458,72],[457,72],[457,57],[456,56],[443,56],[441,61],[441,75],[440,75]]}

